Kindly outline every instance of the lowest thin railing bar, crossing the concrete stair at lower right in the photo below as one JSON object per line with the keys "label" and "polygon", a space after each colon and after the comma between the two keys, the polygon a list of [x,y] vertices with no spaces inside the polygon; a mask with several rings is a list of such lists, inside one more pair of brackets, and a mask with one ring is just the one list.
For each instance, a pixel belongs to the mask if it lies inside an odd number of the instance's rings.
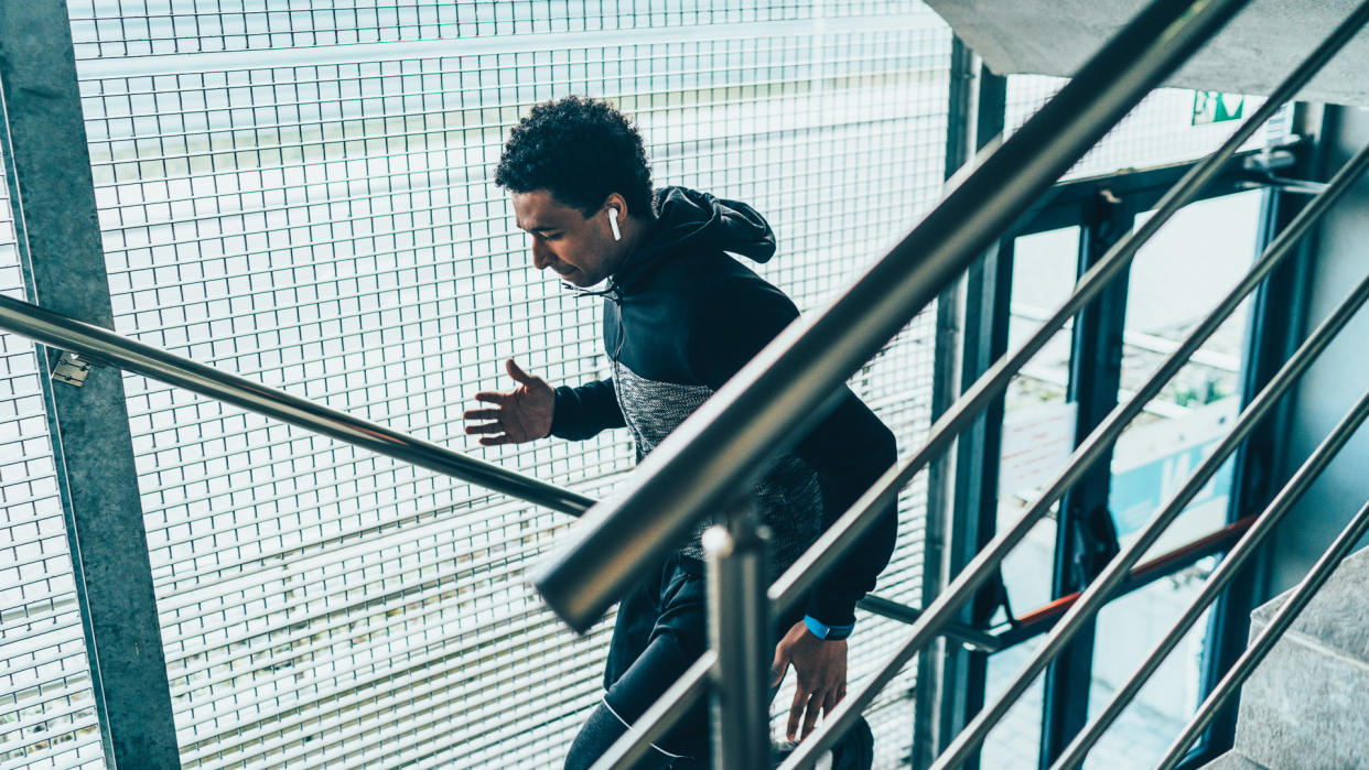
{"label": "lowest thin railing bar, crossing the concrete stair at lower right", "polygon": [[1369,503],[1365,503],[1358,513],[1346,524],[1336,540],[1327,548],[1327,551],[1317,559],[1312,570],[1302,579],[1296,591],[1284,602],[1284,606],[1279,607],[1279,611],[1269,618],[1269,625],[1264,632],[1259,633],[1250,643],[1250,647],[1236,659],[1236,663],[1231,666],[1227,676],[1217,682],[1217,687],[1207,695],[1207,699],[1202,702],[1198,707],[1198,713],[1194,718],[1184,725],[1183,732],[1175,739],[1175,743],[1169,745],[1165,756],[1161,758],[1157,770],[1173,770],[1176,765],[1183,759],[1184,752],[1188,751],[1188,745],[1192,744],[1198,733],[1207,729],[1212,721],[1217,718],[1217,711],[1225,706],[1231,696],[1236,693],[1236,689],[1244,684],[1250,674],[1255,672],[1255,666],[1265,659],[1266,655],[1273,650],[1275,643],[1288,630],[1292,621],[1298,620],[1298,613],[1307,606],[1307,602],[1316,596],[1317,591],[1325,585],[1331,573],[1340,565],[1342,561],[1350,551],[1354,550],[1359,539],[1369,533]]}

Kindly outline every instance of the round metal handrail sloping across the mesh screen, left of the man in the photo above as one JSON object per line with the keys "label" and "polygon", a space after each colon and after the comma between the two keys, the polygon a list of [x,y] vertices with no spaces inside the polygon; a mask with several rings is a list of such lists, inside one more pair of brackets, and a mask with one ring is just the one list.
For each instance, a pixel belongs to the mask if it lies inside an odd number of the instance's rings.
{"label": "round metal handrail sloping across the mesh screen, left of the man", "polygon": [[353,417],[307,398],[120,336],[45,308],[0,295],[0,328],[93,362],[114,365],[185,390],[241,406],[282,423],[323,434],[361,449],[412,462],[463,481],[504,492],[542,507],[579,516],[591,498],[475,460],[445,446]]}

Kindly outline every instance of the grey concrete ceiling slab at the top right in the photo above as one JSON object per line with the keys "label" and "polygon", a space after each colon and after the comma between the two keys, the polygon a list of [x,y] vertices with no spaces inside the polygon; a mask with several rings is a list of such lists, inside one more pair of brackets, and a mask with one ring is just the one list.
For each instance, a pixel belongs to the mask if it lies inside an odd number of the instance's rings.
{"label": "grey concrete ceiling slab at the top right", "polygon": [[[1144,0],[928,0],[998,74],[1073,75]],[[1265,96],[1359,0],[1251,0],[1165,85]],[[1369,107],[1369,31],[1298,96]]]}

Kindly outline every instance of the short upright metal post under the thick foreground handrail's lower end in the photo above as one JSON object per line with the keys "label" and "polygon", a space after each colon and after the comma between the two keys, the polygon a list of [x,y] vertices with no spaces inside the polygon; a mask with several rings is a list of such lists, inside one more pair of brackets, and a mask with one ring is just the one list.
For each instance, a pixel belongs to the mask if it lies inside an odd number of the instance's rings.
{"label": "short upright metal post under the thick foreground handrail's lower end", "polygon": [[769,767],[769,533],[750,505],[704,532],[713,669],[713,767]]}

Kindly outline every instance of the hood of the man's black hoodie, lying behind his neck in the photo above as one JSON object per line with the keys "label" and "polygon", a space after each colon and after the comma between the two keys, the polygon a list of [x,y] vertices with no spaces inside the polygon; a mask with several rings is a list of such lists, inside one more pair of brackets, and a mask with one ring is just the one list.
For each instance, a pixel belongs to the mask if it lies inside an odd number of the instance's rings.
{"label": "hood of the man's black hoodie, lying behind his neck", "polygon": [[615,276],[631,283],[675,254],[730,252],[765,263],[775,256],[775,233],[752,207],[715,198],[687,187],[656,190],[656,222],[650,234]]}

